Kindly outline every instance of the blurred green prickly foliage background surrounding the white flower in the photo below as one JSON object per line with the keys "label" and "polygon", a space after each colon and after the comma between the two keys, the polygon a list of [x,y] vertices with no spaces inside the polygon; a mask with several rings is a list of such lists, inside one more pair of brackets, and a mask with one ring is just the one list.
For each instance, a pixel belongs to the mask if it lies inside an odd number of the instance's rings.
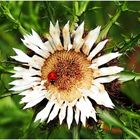
{"label": "blurred green prickly foliage background surrounding the white flower", "polygon": [[[114,110],[99,110],[99,122],[93,126],[34,123],[34,111],[22,110],[18,93],[11,92],[14,55],[12,48],[27,51],[22,35],[37,31],[42,37],[48,32],[49,22],[59,20],[60,27],[69,20],[71,30],[85,21],[86,30],[102,26],[100,39],[109,38],[105,51],[119,51],[122,94],[131,105],[118,105]],[[9,1],[0,2],[0,138],[140,138],[140,2],[101,1]],[[137,52],[137,53],[136,53]],[[18,65],[16,63],[16,65]],[[102,127],[107,124],[110,131]],[[113,132],[112,128],[121,131]]]}

